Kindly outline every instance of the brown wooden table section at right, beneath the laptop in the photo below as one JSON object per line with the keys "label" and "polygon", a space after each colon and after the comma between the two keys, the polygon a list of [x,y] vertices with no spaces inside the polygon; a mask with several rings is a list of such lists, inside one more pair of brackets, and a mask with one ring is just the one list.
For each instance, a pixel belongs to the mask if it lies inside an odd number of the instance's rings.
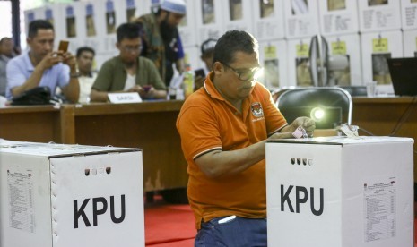
{"label": "brown wooden table section at right, beneath the laptop", "polygon": [[[352,98],[352,124],[379,136],[411,137],[417,141],[417,98]],[[361,135],[369,135],[361,132]],[[415,147],[415,145],[414,145]],[[414,148],[414,181],[417,178]]]}

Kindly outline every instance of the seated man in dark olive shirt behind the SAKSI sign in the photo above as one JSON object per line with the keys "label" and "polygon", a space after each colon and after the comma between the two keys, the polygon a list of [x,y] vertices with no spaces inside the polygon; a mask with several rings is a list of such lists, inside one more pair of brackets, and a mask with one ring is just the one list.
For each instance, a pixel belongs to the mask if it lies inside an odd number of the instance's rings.
{"label": "seated man in dark olive shirt behind the SAKSI sign", "polygon": [[91,87],[91,101],[107,101],[109,92],[137,92],[141,98],[166,98],[167,91],[155,65],[139,56],[141,26],[125,23],[117,28],[119,55],[106,61]]}

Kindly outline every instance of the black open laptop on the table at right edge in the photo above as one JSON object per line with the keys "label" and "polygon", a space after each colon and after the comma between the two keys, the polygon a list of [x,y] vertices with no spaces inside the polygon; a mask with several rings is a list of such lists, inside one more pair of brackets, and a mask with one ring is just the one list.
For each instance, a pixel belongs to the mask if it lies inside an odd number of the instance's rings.
{"label": "black open laptop on the table at right edge", "polygon": [[417,57],[388,58],[395,95],[417,96]]}

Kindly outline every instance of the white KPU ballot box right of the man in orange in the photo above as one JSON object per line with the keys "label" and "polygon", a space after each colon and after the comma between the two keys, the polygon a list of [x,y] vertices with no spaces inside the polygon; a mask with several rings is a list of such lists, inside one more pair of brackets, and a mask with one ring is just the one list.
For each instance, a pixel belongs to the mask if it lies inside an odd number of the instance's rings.
{"label": "white KPU ballot box right of the man in orange", "polygon": [[413,139],[266,143],[268,246],[413,246]]}

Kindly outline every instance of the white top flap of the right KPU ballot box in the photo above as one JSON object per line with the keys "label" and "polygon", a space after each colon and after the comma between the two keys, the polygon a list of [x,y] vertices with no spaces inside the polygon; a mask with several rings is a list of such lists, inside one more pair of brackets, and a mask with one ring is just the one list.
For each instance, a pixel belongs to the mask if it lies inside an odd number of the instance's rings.
{"label": "white top flap of the right KPU ballot box", "polygon": [[277,143],[302,143],[302,144],[324,144],[324,145],[347,145],[347,144],[362,144],[362,143],[378,143],[381,141],[398,142],[411,141],[412,138],[404,137],[387,137],[387,136],[360,136],[359,138],[348,138],[347,136],[326,136],[314,137],[305,139],[268,139],[267,142]]}

